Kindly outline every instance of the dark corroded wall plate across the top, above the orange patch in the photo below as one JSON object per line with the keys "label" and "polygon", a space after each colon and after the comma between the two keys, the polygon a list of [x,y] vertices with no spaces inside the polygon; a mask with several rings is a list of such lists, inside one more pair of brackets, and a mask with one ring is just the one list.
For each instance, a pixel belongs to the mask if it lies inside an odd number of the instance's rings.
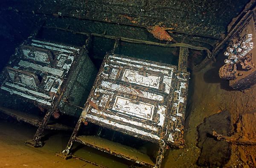
{"label": "dark corroded wall plate across the top, above the orange patch", "polygon": [[[20,11],[54,14],[148,28],[159,25],[172,31],[221,39],[226,26],[246,1],[207,0],[55,0],[19,3]],[[11,1],[12,4],[15,4]],[[49,8],[49,4],[54,4]],[[223,8],[226,6],[226,8]],[[221,19],[220,19],[221,18]]]}

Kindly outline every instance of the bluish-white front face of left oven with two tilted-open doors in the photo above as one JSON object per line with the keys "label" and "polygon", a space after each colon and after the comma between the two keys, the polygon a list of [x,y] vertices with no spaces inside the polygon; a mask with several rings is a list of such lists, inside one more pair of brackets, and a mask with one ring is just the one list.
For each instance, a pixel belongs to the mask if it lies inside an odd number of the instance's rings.
{"label": "bluish-white front face of left oven with two tilted-open doors", "polygon": [[17,49],[17,64],[9,62],[1,89],[52,106],[79,51],[72,46],[32,39],[31,44]]}

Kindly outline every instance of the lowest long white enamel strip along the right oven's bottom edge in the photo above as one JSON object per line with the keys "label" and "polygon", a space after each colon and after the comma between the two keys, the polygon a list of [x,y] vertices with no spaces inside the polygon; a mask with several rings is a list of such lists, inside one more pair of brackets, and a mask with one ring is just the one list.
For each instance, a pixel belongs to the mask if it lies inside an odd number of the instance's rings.
{"label": "lowest long white enamel strip along the right oven's bottom edge", "polygon": [[151,134],[150,132],[145,132],[143,130],[140,130],[140,129],[137,129],[137,128],[133,128],[131,126],[126,126],[126,125],[123,125],[123,124],[119,124],[119,123],[113,122],[111,120],[107,120],[107,119],[104,119],[104,118],[99,118],[97,116],[90,115],[90,114],[87,114],[86,118],[90,118],[90,119],[93,119],[93,120],[96,120],[96,121],[99,121],[99,122],[102,122],[102,123],[106,123],[108,125],[112,125],[112,126],[118,127],[120,129],[125,129],[127,131],[134,132],[136,134],[141,134],[143,136],[147,136],[147,137],[154,138],[156,140],[160,140],[160,137],[158,137],[157,135]]}

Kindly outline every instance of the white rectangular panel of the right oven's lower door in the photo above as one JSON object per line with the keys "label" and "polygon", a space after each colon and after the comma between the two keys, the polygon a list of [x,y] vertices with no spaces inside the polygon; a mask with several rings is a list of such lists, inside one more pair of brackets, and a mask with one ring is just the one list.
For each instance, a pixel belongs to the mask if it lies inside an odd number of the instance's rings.
{"label": "white rectangular panel of the right oven's lower door", "polygon": [[143,102],[134,103],[129,98],[116,96],[115,103],[112,109],[125,114],[134,115],[146,120],[152,120],[154,105]]}

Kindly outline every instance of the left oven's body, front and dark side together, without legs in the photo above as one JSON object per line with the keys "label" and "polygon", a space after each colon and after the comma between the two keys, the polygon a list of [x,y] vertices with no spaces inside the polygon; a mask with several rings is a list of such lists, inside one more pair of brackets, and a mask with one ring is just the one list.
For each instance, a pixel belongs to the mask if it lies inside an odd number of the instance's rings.
{"label": "left oven's body, front and dark side together, without legs", "polygon": [[[64,102],[73,105],[61,112],[77,117],[80,114],[76,114],[74,106],[83,106],[81,96],[88,95],[96,73],[84,49],[32,39],[17,48],[3,70],[1,94],[2,97],[14,95],[42,110],[52,108],[61,100],[60,107]],[[11,103],[12,108],[18,109],[15,102]],[[75,109],[70,111],[72,108]]]}

